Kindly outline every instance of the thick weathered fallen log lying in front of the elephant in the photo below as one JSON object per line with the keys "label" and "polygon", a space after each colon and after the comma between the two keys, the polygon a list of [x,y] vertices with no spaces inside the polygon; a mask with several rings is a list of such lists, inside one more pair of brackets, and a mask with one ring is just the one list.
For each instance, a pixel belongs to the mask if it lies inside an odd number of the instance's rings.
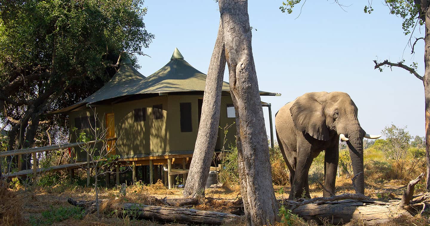
{"label": "thick weathered fallen log lying in front of the elephant", "polygon": [[412,217],[424,211],[430,204],[430,193],[413,196],[414,186],[423,176],[424,174],[421,174],[409,182],[402,200],[380,202],[362,194],[343,194],[302,202],[285,200],[282,203],[293,214],[317,223],[339,225],[356,219],[362,220],[365,225],[379,225],[402,216]]}

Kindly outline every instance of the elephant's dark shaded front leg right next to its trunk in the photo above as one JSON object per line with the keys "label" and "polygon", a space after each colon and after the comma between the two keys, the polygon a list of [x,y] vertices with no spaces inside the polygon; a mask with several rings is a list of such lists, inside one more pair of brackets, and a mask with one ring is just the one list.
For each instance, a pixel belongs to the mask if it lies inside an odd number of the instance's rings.
{"label": "elephant's dark shaded front leg right next to its trunk", "polygon": [[[327,148],[324,162],[324,187],[332,192],[332,194],[335,194],[336,171],[338,170],[339,162],[339,142],[337,139],[331,147]],[[330,197],[331,195],[324,190],[323,196]]]}

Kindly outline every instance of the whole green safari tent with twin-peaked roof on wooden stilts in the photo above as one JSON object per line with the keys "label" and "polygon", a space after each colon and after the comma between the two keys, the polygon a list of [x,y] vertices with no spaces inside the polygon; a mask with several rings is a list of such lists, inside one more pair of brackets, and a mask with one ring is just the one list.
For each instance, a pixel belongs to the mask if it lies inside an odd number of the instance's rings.
{"label": "whole green safari tent with twin-peaked roof on wooden stilts", "polygon": [[[54,113],[68,113],[72,142],[80,132],[91,134],[92,128],[103,128],[106,138],[117,137],[115,148],[110,152],[120,156],[121,164],[131,162],[133,169],[149,166],[149,172],[142,175],[149,173],[151,183],[154,177],[163,178],[162,174],[170,182],[170,176],[186,173],[190,163],[205,85],[206,75],[185,61],[178,49],[165,66],[148,77],[123,58],[117,73],[101,89]],[[277,94],[260,92],[260,95]],[[229,84],[223,82],[221,127],[235,121],[232,103]],[[234,144],[235,128],[228,130],[225,144],[224,136],[218,136],[215,150],[223,146],[228,149],[230,143]],[[78,162],[87,161],[85,152],[75,149],[74,155]],[[160,167],[154,168],[154,165]],[[118,175],[116,182],[119,183]]]}

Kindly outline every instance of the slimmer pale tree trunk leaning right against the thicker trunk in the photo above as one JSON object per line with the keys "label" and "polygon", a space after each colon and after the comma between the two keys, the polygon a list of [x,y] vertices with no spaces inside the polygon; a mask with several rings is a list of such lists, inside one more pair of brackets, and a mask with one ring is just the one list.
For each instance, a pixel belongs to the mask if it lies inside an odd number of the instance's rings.
{"label": "slimmer pale tree trunk leaning right against the thicker trunk", "polygon": [[218,37],[215,41],[208,76],[206,77],[202,116],[187,183],[185,183],[185,197],[202,198],[205,195],[206,180],[218,136],[225,61],[223,30],[220,21]]}

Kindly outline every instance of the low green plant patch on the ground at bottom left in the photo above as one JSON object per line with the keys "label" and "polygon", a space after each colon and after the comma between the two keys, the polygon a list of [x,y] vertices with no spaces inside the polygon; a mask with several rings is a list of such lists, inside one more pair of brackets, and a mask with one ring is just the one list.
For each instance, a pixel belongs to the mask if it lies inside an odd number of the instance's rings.
{"label": "low green plant patch on the ground at bottom left", "polygon": [[85,216],[85,211],[81,210],[81,208],[79,207],[56,206],[54,208],[53,206],[51,206],[49,210],[42,212],[42,216],[40,218],[31,216],[29,221],[30,221],[30,224],[33,226],[53,225],[56,222],[61,222],[69,218],[81,220],[83,219],[84,216]]}

